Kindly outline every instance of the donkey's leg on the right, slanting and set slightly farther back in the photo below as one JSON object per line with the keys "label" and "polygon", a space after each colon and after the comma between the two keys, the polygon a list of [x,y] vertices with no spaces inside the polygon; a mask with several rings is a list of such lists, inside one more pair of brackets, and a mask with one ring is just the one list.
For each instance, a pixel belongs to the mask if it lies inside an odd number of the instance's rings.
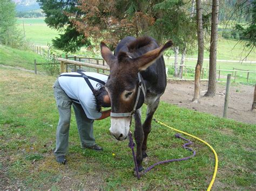
{"label": "donkey's leg on the right, slanting and set slightly farther back", "polygon": [[157,98],[156,101],[147,104],[146,120],[143,123],[144,141],[143,141],[143,144],[142,144],[142,157],[143,157],[143,161],[145,163],[147,163],[147,160],[148,160],[147,153],[146,153],[146,150],[147,150],[147,136],[149,135],[149,133],[151,131],[152,118],[153,118],[154,112],[157,110],[158,105],[159,105],[159,98]]}

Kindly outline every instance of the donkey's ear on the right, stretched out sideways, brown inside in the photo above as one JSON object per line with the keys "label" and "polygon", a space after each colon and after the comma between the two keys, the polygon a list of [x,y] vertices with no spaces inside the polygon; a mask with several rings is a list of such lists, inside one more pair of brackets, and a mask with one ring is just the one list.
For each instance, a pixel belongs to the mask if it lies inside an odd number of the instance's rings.
{"label": "donkey's ear on the right, stretched out sideways, brown inside", "polygon": [[147,67],[151,66],[154,61],[156,61],[165,51],[165,49],[173,45],[172,41],[167,41],[163,46],[153,49],[153,51],[147,52],[138,58],[134,58],[133,61],[136,63],[136,66],[139,70],[145,70]]}

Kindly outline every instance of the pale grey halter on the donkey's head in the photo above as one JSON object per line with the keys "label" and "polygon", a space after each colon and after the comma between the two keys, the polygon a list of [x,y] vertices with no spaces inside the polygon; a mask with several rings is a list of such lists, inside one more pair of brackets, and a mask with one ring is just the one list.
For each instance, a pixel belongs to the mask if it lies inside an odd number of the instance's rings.
{"label": "pale grey halter on the donkey's head", "polygon": [[139,88],[138,88],[137,98],[136,98],[136,102],[135,102],[135,105],[133,107],[133,110],[131,112],[128,112],[128,113],[113,113],[113,112],[111,112],[110,113],[111,117],[131,117],[132,115],[134,115],[134,112],[135,112],[135,110],[137,108],[137,105],[138,105],[138,102],[139,102],[140,90],[142,90],[142,93],[143,93],[144,99],[145,99],[146,91],[144,89],[142,79],[141,79],[139,73],[138,73],[138,77],[139,77],[139,83],[138,83]]}

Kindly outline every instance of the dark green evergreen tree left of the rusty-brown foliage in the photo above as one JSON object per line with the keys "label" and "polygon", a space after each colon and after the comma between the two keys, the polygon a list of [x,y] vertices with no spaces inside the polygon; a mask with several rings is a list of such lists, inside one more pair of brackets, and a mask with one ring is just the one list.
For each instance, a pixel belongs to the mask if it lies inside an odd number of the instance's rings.
{"label": "dark green evergreen tree left of the rusty-brown foliage", "polygon": [[45,23],[52,29],[63,31],[59,37],[52,40],[53,46],[65,52],[75,52],[82,46],[91,45],[83,33],[76,30],[71,22],[71,16],[79,19],[81,12],[77,8],[78,0],[39,0],[39,5],[45,13]]}

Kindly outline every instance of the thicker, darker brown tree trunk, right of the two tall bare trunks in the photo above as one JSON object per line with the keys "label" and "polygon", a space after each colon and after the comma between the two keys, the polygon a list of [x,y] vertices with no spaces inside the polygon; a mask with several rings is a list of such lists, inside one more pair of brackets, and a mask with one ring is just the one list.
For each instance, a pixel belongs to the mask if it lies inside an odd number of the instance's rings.
{"label": "thicker, darker brown tree trunk, right of the two tall bare trunks", "polygon": [[219,0],[212,1],[212,26],[211,26],[211,45],[210,45],[210,65],[208,89],[205,96],[215,96],[216,91],[216,59],[217,59],[217,40],[218,40],[218,15]]}

